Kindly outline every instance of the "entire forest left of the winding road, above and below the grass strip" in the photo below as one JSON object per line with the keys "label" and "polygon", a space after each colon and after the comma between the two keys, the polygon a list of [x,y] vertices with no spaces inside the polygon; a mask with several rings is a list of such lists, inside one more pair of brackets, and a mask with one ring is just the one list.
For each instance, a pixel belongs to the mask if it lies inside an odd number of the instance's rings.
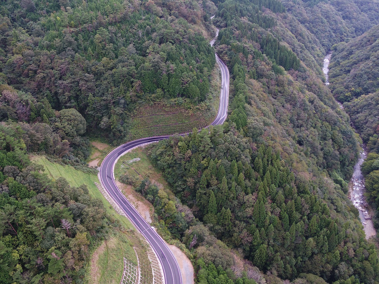
{"label": "entire forest left of the winding road, above and below the grass strip", "polygon": [[121,143],[145,103],[203,104],[215,65],[205,9],[215,5],[0,3],[0,283],[85,281],[91,251],[121,224],[28,154],[97,173],[89,135]]}

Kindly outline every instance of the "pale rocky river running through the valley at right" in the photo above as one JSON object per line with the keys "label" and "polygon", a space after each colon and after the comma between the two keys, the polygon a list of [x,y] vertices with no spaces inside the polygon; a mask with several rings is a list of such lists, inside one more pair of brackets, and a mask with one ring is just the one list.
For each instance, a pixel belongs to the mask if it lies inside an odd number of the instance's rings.
{"label": "pale rocky river running through the valley at right", "polygon": [[[324,67],[323,72],[325,75],[325,85],[329,85],[329,63],[330,58],[332,57],[332,52],[328,52],[324,58]],[[341,108],[343,105],[338,102]],[[365,147],[362,147],[362,150],[359,152],[358,162],[354,165],[354,174],[349,182],[349,199],[353,202],[354,206],[359,211],[359,218],[363,225],[363,230],[365,231],[366,238],[370,238],[371,236],[376,235],[376,231],[374,229],[373,221],[371,220],[373,216],[373,210],[371,210],[366,204],[365,193],[365,179],[363,178],[362,171],[360,167],[362,163],[365,161],[367,157],[367,153]]]}

